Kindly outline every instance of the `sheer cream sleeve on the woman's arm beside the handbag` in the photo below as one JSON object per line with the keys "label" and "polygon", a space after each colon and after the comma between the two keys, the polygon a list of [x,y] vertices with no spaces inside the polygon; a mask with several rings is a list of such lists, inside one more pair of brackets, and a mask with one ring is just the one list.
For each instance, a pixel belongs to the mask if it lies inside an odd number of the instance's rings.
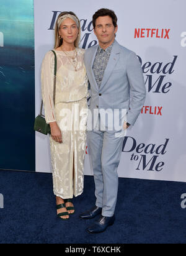
{"label": "sheer cream sleeve on the woman's arm beside the handbag", "polygon": [[45,120],[47,124],[55,122],[55,106],[53,104],[53,78],[55,57],[53,52],[48,52],[42,62],[42,98],[45,108]]}

